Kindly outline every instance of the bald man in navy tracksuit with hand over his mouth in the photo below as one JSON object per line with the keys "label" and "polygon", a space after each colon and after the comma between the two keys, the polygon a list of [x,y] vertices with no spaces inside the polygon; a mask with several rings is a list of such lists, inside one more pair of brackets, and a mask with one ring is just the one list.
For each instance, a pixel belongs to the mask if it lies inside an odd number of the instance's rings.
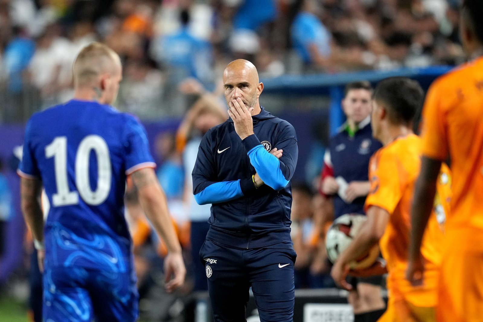
{"label": "bald man in navy tracksuit with hand over his mouth", "polygon": [[263,84],[251,62],[228,64],[223,83],[230,118],[205,134],[193,170],[196,201],[212,204],[199,255],[214,321],[246,321],[251,286],[261,322],[292,322],[295,130],[260,106]]}

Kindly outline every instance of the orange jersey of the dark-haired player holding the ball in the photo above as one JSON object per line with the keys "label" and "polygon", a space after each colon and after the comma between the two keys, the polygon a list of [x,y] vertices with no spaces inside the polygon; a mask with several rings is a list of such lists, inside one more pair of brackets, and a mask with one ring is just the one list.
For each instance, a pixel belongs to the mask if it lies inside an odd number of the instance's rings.
{"label": "orange jersey of the dark-haired player holding the ball", "polygon": [[412,287],[405,279],[408,263],[411,206],[414,185],[421,168],[421,139],[414,135],[400,137],[377,151],[369,163],[371,189],[365,210],[377,206],[390,214],[379,246],[387,262],[387,287],[393,300],[408,301],[418,307],[436,306],[438,267],[446,213],[449,211],[450,174],[441,167],[437,197],[422,245],[425,258],[424,285]]}

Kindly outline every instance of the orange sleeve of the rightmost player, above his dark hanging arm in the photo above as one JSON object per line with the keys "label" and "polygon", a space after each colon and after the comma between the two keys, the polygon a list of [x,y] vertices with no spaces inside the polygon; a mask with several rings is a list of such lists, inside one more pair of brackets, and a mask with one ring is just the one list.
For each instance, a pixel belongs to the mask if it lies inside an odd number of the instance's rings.
{"label": "orange sleeve of the rightmost player, above his dark hanging arm", "polygon": [[448,155],[446,121],[442,112],[440,83],[436,81],[429,87],[423,109],[423,126],[421,131],[422,154],[432,159],[444,161]]}

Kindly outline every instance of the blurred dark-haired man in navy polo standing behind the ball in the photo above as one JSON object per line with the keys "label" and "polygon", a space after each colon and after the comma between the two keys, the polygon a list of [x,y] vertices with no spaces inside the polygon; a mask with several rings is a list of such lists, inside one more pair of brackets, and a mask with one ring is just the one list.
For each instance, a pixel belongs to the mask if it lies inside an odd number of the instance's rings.
{"label": "blurred dark-haired man in navy polo standing behind the ball", "polygon": [[[370,187],[369,158],[382,147],[372,138],[371,95],[369,82],[349,83],[345,87],[342,109],[347,121],[330,139],[320,185],[320,193],[333,200],[331,220],[346,213],[364,214]],[[348,296],[355,322],[377,321],[385,308],[381,296],[382,277],[351,278],[350,282],[355,286]]]}

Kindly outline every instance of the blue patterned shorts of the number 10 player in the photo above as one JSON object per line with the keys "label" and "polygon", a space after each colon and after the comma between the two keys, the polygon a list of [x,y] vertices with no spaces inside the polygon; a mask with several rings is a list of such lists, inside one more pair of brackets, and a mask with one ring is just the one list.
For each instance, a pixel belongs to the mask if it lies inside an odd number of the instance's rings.
{"label": "blue patterned shorts of the number 10 player", "polygon": [[130,273],[54,267],[43,274],[43,321],[134,322],[138,300]]}

